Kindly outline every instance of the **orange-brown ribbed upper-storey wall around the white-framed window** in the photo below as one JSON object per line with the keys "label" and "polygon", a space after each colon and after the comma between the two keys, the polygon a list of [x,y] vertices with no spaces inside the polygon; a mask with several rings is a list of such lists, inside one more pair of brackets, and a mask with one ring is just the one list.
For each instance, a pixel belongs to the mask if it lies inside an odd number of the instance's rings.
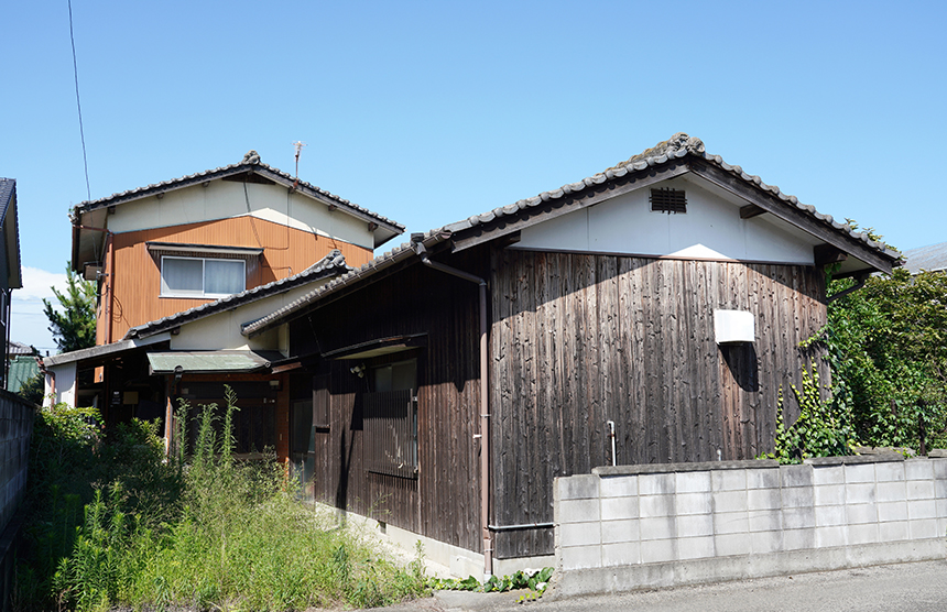
{"label": "orange-brown ribbed upper-storey wall around the white-framed window", "polygon": [[[348,242],[287,228],[254,217],[236,217],[202,223],[118,233],[115,236],[115,310],[111,341],[120,340],[130,327],[160,319],[211,299],[182,299],[159,297],[161,270],[145,242],[176,242],[183,244],[217,244],[226,247],[263,247],[260,265],[247,266],[247,288],[253,288],[292,272],[298,273],[314,264],[333,249],[338,249],[346,262],[358,267],[372,258],[372,252]],[[109,262],[106,261],[109,265]],[[111,273],[111,270],[106,270]],[[106,338],[106,309],[99,308],[96,343]]]}

